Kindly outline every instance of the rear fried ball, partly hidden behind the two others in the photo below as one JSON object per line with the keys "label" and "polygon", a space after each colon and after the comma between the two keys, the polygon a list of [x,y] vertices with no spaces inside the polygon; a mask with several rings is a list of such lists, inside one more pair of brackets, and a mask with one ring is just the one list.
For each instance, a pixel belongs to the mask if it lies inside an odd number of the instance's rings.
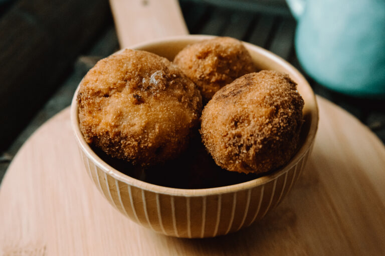
{"label": "rear fried ball, partly hidden behind the two others", "polygon": [[198,85],[205,102],[234,79],[256,71],[249,51],[231,37],[188,45],[175,56],[174,63]]}

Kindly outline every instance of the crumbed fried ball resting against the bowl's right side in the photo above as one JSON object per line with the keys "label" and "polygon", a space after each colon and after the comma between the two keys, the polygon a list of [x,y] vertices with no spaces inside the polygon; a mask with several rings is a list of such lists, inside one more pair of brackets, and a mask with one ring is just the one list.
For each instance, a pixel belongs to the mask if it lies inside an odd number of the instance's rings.
{"label": "crumbed fried ball resting against the bowl's right side", "polygon": [[286,163],[297,148],[303,99],[281,72],[246,74],[220,89],[202,112],[203,142],[218,165],[262,173]]}

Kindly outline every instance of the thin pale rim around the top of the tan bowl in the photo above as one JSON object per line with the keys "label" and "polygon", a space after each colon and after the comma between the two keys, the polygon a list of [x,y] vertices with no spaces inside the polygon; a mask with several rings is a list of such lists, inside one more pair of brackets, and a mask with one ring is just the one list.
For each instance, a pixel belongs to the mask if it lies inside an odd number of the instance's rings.
{"label": "thin pale rim around the top of the tan bowl", "polygon": [[[163,37],[160,39],[155,39],[155,40],[150,40],[150,41],[145,41],[142,43],[138,43],[135,45],[132,45],[129,48],[132,49],[141,49],[145,47],[152,47],[156,46],[158,44],[164,44],[164,43],[171,43],[175,41],[199,41],[199,40],[204,40],[204,39],[210,39],[216,36],[213,35],[179,35],[179,36],[169,36],[169,37]],[[305,77],[294,67],[292,66],[289,62],[284,60],[283,58],[279,57],[278,55],[272,53],[271,51],[264,49],[260,46],[248,43],[248,42],[243,42],[246,48],[248,50],[252,50],[254,52],[257,52],[258,54],[262,55],[263,57],[270,59],[273,62],[276,62],[278,65],[283,66],[287,70],[290,71],[291,76],[295,76],[295,80],[297,83],[301,83],[302,86],[305,86],[306,90],[308,90],[308,93],[312,95],[312,101],[306,102],[306,105],[308,106],[309,112],[311,114],[311,123],[309,126],[309,131],[308,134],[302,144],[302,146],[297,150],[297,152],[292,156],[290,161],[286,163],[283,167],[274,170],[273,172],[258,177],[253,180],[249,180],[246,182],[242,183],[237,183],[233,185],[227,185],[227,186],[220,186],[220,187],[210,187],[210,188],[198,188],[198,189],[185,189],[185,188],[173,188],[173,187],[166,187],[166,186],[161,186],[161,185],[155,185],[151,184],[145,181],[141,181],[139,179],[133,178],[127,174],[124,174],[120,172],[119,170],[113,168],[109,164],[107,164],[105,161],[103,161],[93,150],[92,148],[88,145],[88,143],[85,141],[83,134],[80,130],[79,127],[79,116],[78,116],[78,104],[77,104],[77,94],[79,90],[79,85],[74,93],[72,103],[71,103],[71,126],[72,130],[75,134],[76,141],[78,143],[78,146],[80,146],[81,150],[86,154],[86,156],[93,161],[94,164],[96,164],[101,170],[106,172],[107,174],[111,175],[113,178],[127,183],[129,185],[145,189],[148,191],[152,191],[155,193],[163,193],[163,194],[168,194],[168,195],[175,195],[175,196],[207,196],[207,195],[215,195],[215,194],[223,194],[223,193],[228,193],[228,192],[235,192],[235,191],[240,191],[240,190],[245,190],[245,189],[250,189],[262,184],[266,184],[270,182],[271,180],[276,179],[280,175],[286,173],[289,169],[291,169],[295,164],[297,164],[303,156],[308,152],[308,150],[311,149],[314,137],[317,131],[318,127],[318,107],[317,107],[317,102],[316,102],[316,97],[315,94],[310,87],[310,84],[307,82]],[[120,49],[117,52],[113,54],[117,54],[120,51],[124,50]]]}

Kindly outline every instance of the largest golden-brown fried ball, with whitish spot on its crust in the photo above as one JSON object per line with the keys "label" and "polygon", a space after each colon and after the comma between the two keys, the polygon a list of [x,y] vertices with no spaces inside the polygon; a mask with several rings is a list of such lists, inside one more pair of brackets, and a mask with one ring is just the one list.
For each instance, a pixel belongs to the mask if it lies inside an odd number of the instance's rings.
{"label": "largest golden-brown fried ball, with whitish spot on its crust", "polygon": [[77,99],[86,141],[142,166],[186,148],[202,110],[196,84],[176,65],[131,49],[97,62],[81,81]]}

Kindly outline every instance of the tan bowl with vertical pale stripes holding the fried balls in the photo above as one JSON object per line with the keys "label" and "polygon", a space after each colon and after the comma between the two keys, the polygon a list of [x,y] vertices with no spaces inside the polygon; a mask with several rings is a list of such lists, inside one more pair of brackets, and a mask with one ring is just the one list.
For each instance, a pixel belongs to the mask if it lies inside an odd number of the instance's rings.
{"label": "tan bowl with vertical pale stripes holding the fried balls", "polygon": [[[141,43],[132,48],[154,52],[170,60],[184,46],[206,35],[183,35]],[[256,65],[288,73],[304,98],[301,143],[282,168],[251,181],[205,189],[181,189],[150,184],[130,177],[103,161],[86,143],[79,129],[75,92],[71,121],[80,154],[92,181],[104,197],[131,220],[156,232],[177,237],[213,237],[237,231],[263,218],[277,206],[300,176],[310,154],[318,124],[315,95],[306,79],[277,55],[244,43]]]}

